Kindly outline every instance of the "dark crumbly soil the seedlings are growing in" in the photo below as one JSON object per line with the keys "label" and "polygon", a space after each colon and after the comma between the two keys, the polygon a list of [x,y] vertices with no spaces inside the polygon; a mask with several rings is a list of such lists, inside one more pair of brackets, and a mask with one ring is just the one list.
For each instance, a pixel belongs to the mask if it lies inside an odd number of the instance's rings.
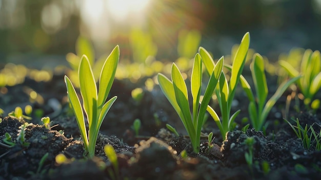
{"label": "dark crumbly soil the seedlings are growing in", "polygon": [[[273,79],[273,78],[271,78]],[[275,79],[275,78],[274,78]],[[271,84],[275,81],[271,80]],[[107,114],[100,129],[96,143],[96,157],[84,157],[84,149],[78,126],[72,111],[66,104],[66,87],[63,75],[56,75],[51,82],[35,83],[30,79],[22,85],[5,87],[0,91],[0,108],[5,114],[16,106],[32,105],[34,112],[42,110],[42,116],[49,116],[51,129],[41,125],[40,118],[33,113],[31,121],[3,116],[0,124],[0,179],[113,179],[114,169],[104,153],[105,145],[112,145],[117,153],[119,174],[116,179],[319,179],[321,177],[321,152],[303,147],[291,127],[284,121],[285,96],[279,99],[268,116],[269,123],[265,133],[248,129],[240,131],[245,125],[243,117],[248,116],[246,96],[240,90],[236,94],[233,111],[241,109],[236,118],[235,130],[222,137],[213,119],[209,118],[203,132],[213,132],[213,148],[208,149],[207,135],[201,139],[200,153],[195,154],[180,119],[166,97],[155,87],[152,92],[144,90],[140,102],[131,98],[131,90],[144,84],[144,81],[131,84],[115,81],[111,96],[118,98]],[[30,102],[23,89],[29,87],[44,98],[44,103]],[[273,85],[268,86],[273,87]],[[273,89],[270,90],[274,92]],[[272,95],[273,93],[271,93]],[[270,95],[270,96],[271,96]],[[59,102],[61,107],[55,103]],[[290,104],[289,116],[299,118],[302,126],[313,125],[320,132],[320,109],[315,112],[296,111],[294,101]],[[246,106],[245,106],[246,105]],[[212,104],[215,109],[215,104]],[[216,108],[217,109],[217,108]],[[134,119],[142,121],[139,136],[131,128]],[[33,123],[26,128],[25,142],[28,147],[16,142],[13,147],[6,146],[2,139],[8,132],[15,140],[19,126],[25,122]],[[174,126],[181,134],[176,137],[166,130],[165,124]],[[38,125],[39,124],[39,125]],[[63,130],[64,133],[58,132]],[[253,165],[249,166],[245,153],[248,137],[254,138]],[[185,151],[184,151],[185,150]],[[185,157],[182,152],[187,152]],[[48,153],[43,165],[39,162]],[[58,164],[58,154],[68,160]]]}

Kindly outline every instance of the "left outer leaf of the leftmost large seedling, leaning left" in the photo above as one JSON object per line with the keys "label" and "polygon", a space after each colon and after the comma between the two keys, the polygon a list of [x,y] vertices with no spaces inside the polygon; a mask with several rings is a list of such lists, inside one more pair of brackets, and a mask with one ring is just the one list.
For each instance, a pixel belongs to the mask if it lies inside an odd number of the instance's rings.
{"label": "left outer leaf of the leftmost large seedling, leaning left", "polygon": [[81,132],[83,141],[84,141],[85,149],[86,149],[86,151],[88,151],[88,137],[87,137],[85,118],[84,118],[82,105],[81,105],[79,98],[76,94],[75,88],[73,87],[70,79],[67,76],[65,76],[65,83],[66,83],[66,87],[67,87],[69,102],[70,102],[72,110],[76,116],[77,124],[78,124],[79,130]]}

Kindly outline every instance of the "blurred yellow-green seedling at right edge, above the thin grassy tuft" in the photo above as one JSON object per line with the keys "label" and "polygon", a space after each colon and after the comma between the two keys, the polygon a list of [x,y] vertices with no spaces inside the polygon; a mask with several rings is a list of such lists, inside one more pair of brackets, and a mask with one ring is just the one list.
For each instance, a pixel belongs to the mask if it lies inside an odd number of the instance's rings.
{"label": "blurred yellow-green seedling at right edge, above the thin grassy tuft", "polygon": [[319,51],[306,50],[301,61],[300,69],[295,69],[289,62],[280,60],[282,66],[291,77],[302,75],[297,79],[296,84],[304,95],[304,104],[309,108],[318,108],[319,99],[314,99],[315,94],[321,88],[321,55]]}

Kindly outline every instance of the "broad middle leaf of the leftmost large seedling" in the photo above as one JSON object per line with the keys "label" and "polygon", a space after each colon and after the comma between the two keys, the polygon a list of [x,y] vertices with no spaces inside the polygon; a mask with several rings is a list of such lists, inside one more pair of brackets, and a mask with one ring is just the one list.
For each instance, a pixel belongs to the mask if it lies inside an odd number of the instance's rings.
{"label": "broad middle leaf of the leftmost large seedling", "polygon": [[[84,109],[87,114],[89,129],[91,126],[96,128],[96,117],[97,117],[97,87],[92,73],[88,58],[83,55],[78,69],[79,83],[81,94],[84,102]],[[90,136],[89,136],[90,138]]]}

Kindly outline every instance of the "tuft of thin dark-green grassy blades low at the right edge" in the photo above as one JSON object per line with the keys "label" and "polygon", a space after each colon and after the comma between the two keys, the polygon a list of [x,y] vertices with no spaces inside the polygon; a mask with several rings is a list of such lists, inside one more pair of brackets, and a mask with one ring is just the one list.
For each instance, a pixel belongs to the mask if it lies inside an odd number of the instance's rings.
{"label": "tuft of thin dark-green grassy blades low at the right edge", "polygon": [[[299,119],[296,118],[296,126],[292,125],[289,121],[287,121],[285,119],[285,121],[291,126],[291,128],[293,129],[295,135],[297,136],[297,138],[302,140],[303,143],[303,147],[306,149],[310,149],[312,144],[315,144],[315,149],[316,150],[321,150],[321,130],[320,133],[317,134],[315,133],[314,129],[313,129],[313,125],[310,126],[310,128],[308,128],[308,125],[305,126],[305,128],[303,128],[300,123],[299,123]],[[311,132],[310,132],[311,131]],[[310,135],[309,135],[310,134]]]}

